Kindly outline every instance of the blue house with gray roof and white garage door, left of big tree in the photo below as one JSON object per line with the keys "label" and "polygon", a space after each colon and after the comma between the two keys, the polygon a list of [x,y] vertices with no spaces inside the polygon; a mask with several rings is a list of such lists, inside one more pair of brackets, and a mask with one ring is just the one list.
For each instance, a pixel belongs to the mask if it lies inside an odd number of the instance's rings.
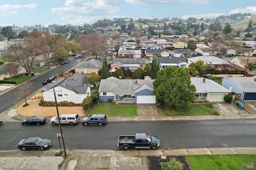
{"label": "blue house with gray roof and white garage door, left of big tree", "polygon": [[157,103],[152,79],[118,79],[109,77],[100,81],[100,99],[116,103]]}

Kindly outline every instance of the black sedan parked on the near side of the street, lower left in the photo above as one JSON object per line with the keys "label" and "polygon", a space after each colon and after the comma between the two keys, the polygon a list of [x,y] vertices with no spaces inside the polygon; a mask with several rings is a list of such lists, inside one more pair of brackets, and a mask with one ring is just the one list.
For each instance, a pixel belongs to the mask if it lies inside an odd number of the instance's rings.
{"label": "black sedan parked on the near side of the street, lower left", "polygon": [[40,149],[44,150],[51,146],[51,141],[49,139],[42,139],[39,137],[32,137],[28,139],[22,139],[17,148],[26,150],[26,149]]}

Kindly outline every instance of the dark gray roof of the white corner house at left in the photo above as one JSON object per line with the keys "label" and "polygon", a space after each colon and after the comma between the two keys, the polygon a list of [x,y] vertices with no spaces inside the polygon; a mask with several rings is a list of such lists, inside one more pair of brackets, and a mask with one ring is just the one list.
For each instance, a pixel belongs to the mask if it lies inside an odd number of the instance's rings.
{"label": "dark gray roof of the white corner house at left", "polygon": [[86,86],[87,83],[88,80],[86,76],[75,73],[67,77],[66,80],[64,78],[58,79],[56,82],[46,87],[46,90],[50,90],[54,87],[60,86],[64,89],[74,91],[75,93],[85,94],[88,89],[88,87]]}

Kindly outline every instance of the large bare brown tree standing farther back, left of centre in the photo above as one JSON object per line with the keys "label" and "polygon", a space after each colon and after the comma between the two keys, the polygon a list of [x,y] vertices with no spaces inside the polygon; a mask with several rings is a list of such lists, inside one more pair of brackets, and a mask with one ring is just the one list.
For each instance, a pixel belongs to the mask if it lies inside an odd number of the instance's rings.
{"label": "large bare brown tree standing farther back, left of centre", "polygon": [[106,35],[99,35],[98,33],[94,32],[94,34],[80,34],[78,35],[75,40],[80,43],[85,50],[88,50],[95,59],[98,58],[98,55],[104,56],[107,54],[107,40],[108,36]]}

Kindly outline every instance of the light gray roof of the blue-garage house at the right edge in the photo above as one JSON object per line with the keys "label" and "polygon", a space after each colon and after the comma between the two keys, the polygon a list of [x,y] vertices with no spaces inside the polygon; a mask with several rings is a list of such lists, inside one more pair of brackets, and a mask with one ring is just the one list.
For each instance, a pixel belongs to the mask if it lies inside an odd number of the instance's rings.
{"label": "light gray roof of the blue-garage house at the right edge", "polygon": [[256,92],[256,82],[254,79],[256,76],[253,77],[230,77],[227,79],[233,79],[234,82],[242,89],[244,92]]}

